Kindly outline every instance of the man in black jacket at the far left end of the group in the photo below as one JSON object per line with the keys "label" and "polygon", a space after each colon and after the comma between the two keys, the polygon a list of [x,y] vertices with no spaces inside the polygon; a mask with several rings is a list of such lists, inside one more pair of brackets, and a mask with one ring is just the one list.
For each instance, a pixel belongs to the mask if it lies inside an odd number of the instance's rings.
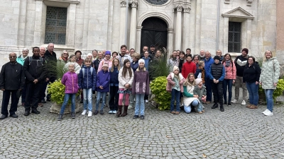
{"label": "man in black jacket at the far left end of the group", "polygon": [[[17,92],[23,89],[25,84],[25,74],[23,66],[16,61],[16,53],[9,54],[10,61],[2,66],[0,73],[0,89],[3,91],[3,100],[1,107],[2,116],[0,119],[5,119],[10,113],[10,117],[18,117],[17,112],[18,99]],[[11,107],[8,113],[8,105],[11,95]]]}

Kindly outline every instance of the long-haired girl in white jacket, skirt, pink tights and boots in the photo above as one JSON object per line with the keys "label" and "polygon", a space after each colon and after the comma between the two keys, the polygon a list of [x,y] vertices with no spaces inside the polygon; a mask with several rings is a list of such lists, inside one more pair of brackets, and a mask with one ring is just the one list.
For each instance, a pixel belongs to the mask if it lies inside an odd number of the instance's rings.
{"label": "long-haired girl in white jacket, skirt, pink tights and boots", "polygon": [[[125,117],[127,115],[127,109],[129,107],[129,95],[131,93],[131,85],[133,82],[133,71],[130,66],[129,59],[124,60],[124,66],[119,70],[119,111],[116,113],[116,117]],[[125,96],[124,113],[121,114],[122,100]]]}

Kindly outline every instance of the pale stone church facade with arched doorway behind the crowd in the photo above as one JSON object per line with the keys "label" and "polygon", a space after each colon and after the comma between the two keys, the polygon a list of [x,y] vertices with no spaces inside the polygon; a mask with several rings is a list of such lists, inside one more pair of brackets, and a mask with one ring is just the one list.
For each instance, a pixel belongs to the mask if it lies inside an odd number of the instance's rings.
{"label": "pale stone church facade with arched doorway behind the crowd", "polygon": [[[241,49],[263,57],[271,50],[284,61],[281,0],[2,0],[0,65],[8,54],[55,43],[71,54],[93,49],[141,52],[144,45],[174,49],[217,49],[233,56]],[[282,16],[282,17],[281,17]],[[281,29],[282,28],[282,29]],[[31,55],[31,51],[30,51]]]}

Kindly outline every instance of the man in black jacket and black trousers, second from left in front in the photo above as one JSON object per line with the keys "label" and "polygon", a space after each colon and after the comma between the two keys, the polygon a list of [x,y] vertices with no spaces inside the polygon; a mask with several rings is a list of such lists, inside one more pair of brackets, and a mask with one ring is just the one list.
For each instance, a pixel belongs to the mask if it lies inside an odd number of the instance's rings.
{"label": "man in black jacket and black trousers, second from left in front", "polygon": [[38,102],[40,99],[40,89],[45,82],[45,70],[43,69],[43,58],[40,57],[40,48],[33,47],[33,57],[28,57],[23,63],[23,70],[26,76],[26,102],[25,116],[30,112],[40,114],[38,112]]}

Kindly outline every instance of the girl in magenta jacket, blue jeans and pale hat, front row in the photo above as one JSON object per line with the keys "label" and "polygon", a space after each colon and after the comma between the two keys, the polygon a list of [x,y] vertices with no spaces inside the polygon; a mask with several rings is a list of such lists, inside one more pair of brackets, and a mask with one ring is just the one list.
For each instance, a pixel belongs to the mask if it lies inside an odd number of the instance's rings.
{"label": "girl in magenta jacket, blue jeans and pale hat, front row", "polygon": [[61,83],[65,85],[65,98],[62,104],[58,120],[61,121],[63,113],[69,98],[71,97],[71,117],[75,119],[75,97],[78,92],[78,76],[75,73],[75,64],[69,64],[69,71],[65,73],[62,77]]}

